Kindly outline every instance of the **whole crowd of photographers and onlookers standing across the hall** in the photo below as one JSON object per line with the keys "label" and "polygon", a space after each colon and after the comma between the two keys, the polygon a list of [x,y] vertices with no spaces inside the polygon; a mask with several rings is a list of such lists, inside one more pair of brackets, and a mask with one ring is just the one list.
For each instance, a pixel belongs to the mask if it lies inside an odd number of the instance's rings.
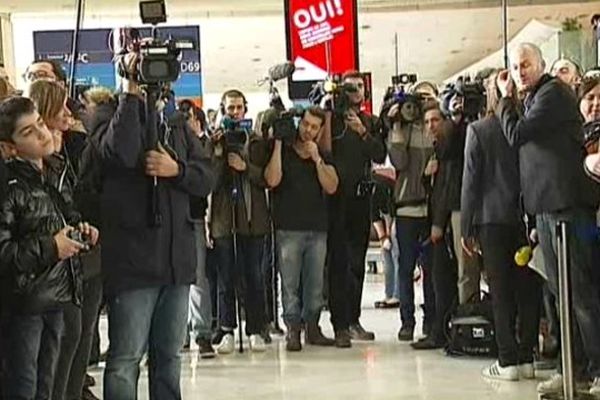
{"label": "whole crowd of photographers and onlookers standing across the hall", "polygon": [[[483,375],[532,379],[542,315],[559,341],[559,221],[570,223],[575,378],[600,394],[598,70],[559,60],[545,74],[523,44],[510,70],[442,93],[402,77],[379,117],[361,111],[365,82],[349,72],[319,105],[273,103],[252,123],[242,92],[205,114],[137,82],[137,61],[123,57],[116,95],[69,98],[47,60],[30,65],[22,96],[0,86],[2,398],[95,398],[86,369],[101,304],[110,400],[136,398],[146,354],[151,397],[181,398],[191,339],[212,358],[235,351],[238,329],[266,351],[278,280],[287,351],[302,332],[305,345],[373,341],[360,321],[373,224],[386,260],[378,306],[399,308],[400,341],[448,346],[447,318],[481,300],[483,274],[498,347]],[[523,246],[541,253],[546,279],[517,265]],[[326,304],[333,338],[319,325]],[[563,380],[559,367],[538,389]]]}

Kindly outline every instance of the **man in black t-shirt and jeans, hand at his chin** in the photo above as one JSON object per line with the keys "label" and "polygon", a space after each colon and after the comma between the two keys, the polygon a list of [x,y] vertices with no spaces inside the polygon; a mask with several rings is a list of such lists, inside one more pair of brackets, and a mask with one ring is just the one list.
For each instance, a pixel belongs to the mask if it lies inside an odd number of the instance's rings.
{"label": "man in black t-shirt and jeans, hand at his chin", "polygon": [[288,351],[302,349],[302,321],[307,326],[308,344],[334,344],[319,328],[327,254],[326,196],[334,194],[338,187],[337,172],[329,155],[320,152],[317,146],[325,119],[325,113],[317,107],[306,110],[294,143],[288,146],[276,139],[265,169],[265,180],[273,189],[273,223],[281,266]]}

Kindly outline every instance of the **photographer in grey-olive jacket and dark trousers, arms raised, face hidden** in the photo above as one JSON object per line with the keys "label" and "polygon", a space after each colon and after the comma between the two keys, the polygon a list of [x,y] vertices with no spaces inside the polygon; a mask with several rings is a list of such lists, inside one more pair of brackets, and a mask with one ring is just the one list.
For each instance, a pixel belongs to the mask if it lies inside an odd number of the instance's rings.
{"label": "photographer in grey-olive jacket and dark trousers, arms raised, face hidden", "polygon": [[[417,83],[409,93],[414,93],[421,103],[436,102],[437,89],[427,83]],[[420,105],[422,107],[422,105]],[[426,133],[420,118],[408,122],[402,120],[401,105],[393,105],[384,118],[391,123],[388,136],[390,160],[396,168],[394,205],[396,218],[396,240],[398,241],[400,284],[400,320],[398,340],[411,342],[415,330],[414,271],[417,260],[424,270],[423,333],[428,335],[435,317],[435,299],[432,282],[432,251],[428,239],[431,232],[430,212],[427,206],[428,193],[423,184],[426,169],[434,168],[429,163],[433,155],[433,139]]]}

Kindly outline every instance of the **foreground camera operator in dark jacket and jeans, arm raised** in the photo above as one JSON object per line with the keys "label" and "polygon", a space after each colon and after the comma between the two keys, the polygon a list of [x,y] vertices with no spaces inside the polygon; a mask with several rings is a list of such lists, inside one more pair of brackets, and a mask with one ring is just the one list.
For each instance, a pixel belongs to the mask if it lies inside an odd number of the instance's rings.
{"label": "foreground camera operator in dark jacket and jeans, arm raised", "polygon": [[[120,61],[129,79],[122,80],[116,110],[96,116],[102,121],[98,129],[105,130],[98,135],[102,271],[110,326],[104,398],[137,397],[140,362],[148,351],[150,396],[181,399],[179,352],[196,271],[190,196],[207,196],[214,177],[210,161],[184,124],[170,129],[160,124],[157,147],[145,147],[147,132],[154,129],[146,121],[158,121],[158,116],[152,115],[155,104],[147,104],[140,84],[131,78],[137,76],[138,60],[139,54],[128,53]],[[150,188],[155,188],[152,197]]]}

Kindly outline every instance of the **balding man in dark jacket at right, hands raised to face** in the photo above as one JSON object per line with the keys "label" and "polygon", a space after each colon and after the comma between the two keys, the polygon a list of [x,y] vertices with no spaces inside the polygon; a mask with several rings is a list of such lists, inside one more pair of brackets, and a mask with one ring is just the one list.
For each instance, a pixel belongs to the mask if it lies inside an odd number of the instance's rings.
{"label": "balding man in dark jacket at right, hands raised to face", "polygon": [[[509,144],[519,149],[525,208],[536,215],[548,281],[555,294],[558,292],[556,225],[559,221],[569,222],[576,378],[592,378],[590,392],[600,394],[600,298],[592,279],[594,235],[589,234],[594,232],[597,198],[582,168],[583,130],[577,100],[568,86],[544,74],[542,53],[535,45],[519,45],[511,53],[510,61],[510,73],[502,71],[498,76],[502,99],[496,115]],[[510,99],[514,90],[527,94],[522,116]],[[563,377],[559,373],[541,383],[538,391],[557,392],[562,387]]]}

